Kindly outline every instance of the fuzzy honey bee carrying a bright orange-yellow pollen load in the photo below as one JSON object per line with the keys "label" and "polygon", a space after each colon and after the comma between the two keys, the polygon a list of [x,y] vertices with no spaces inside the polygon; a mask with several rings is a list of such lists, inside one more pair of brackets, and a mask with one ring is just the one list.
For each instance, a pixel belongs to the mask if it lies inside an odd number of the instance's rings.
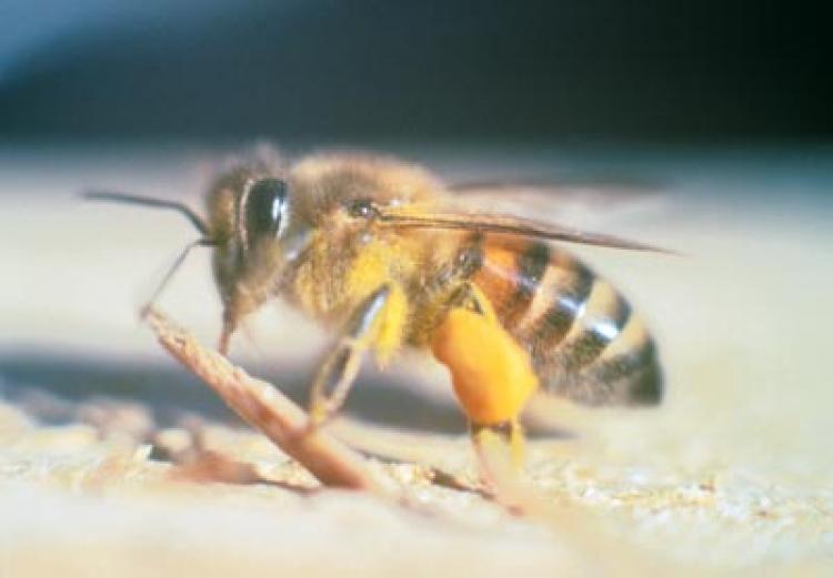
{"label": "fuzzy honey bee carrying a bright orange-yellow pollen load", "polygon": [[365,354],[384,366],[403,347],[448,367],[475,445],[483,432],[520,445],[519,416],[539,391],[590,405],[662,397],[644,324],[560,243],[656,247],[472,211],[425,170],[363,154],[240,162],[211,185],[207,217],[170,201],[87,196],[191,221],[201,237],[188,250],[213,249],[220,351],[278,296],[330,327],[335,339],[311,387],[314,424],[342,406]]}

